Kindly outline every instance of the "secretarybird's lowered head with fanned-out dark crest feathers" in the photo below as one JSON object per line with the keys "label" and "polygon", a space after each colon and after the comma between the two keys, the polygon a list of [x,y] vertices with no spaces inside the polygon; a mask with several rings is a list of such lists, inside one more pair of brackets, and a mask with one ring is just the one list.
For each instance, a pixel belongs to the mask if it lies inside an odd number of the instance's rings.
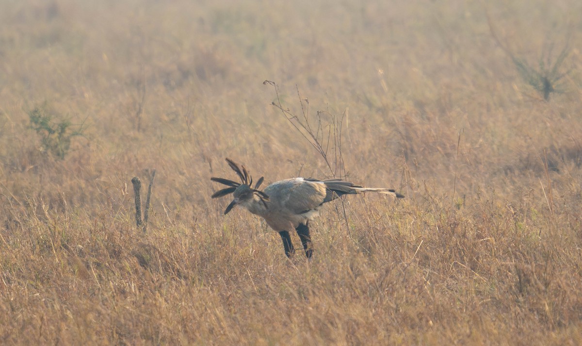
{"label": "secretarybird's lowered head with fanned-out dark crest feathers", "polygon": [[252,188],[251,186],[253,186],[253,178],[250,176],[247,169],[244,168],[244,166],[237,165],[234,161],[230,160],[229,158],[226,158],[226,162],[228,162],[230,168],[232,168],[232,170],[236,172],[242,183],[237,183],[235,181],[224,178],[214,178],[214,177],[210,178],[211,181],[219,182],[223,185],[229,186],[226,189],[218,190],[217,192],[215,192],[212,195],[212,198],[226,196],[229,193],[232,193],[234,197],[232,202],[230,202],[228,207],[226,207],[224,213],[228,214],[228,212],[232,210],[237,204],[243,203],[247,200],[251,200],[255,195],[258,196],[258,200],[260,200],[260,202],[264,204],[265,208],[267,208],[267,201],[269,200],[269,196],[267,196],[266,193],[258,189],[263,181],[262,176],[260,179],[258,179],[254,188]]}

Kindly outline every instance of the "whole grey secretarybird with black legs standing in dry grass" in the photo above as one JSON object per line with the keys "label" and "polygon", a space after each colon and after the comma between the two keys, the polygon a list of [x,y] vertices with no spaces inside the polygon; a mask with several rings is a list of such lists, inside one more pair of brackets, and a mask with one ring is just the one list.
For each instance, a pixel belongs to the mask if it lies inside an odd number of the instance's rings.
{"label": "whole grey secretarybird with black legs standing in dry grass", "polygon": [[212,181],[229,186],[219,190],[212,198],[226,196],[232,193],[234,199],[224,213],[228,214],[235,206],[245,207],[251,213],[258,215],[267,221],[269,227],[279,232],[285,246],[285,255],[290,257],[295,249],[289,232],[297,231],[307,258],[313,255],[311,236],[309,235],[309,220],[318,216],[318,211],[324,203],[343,195],[354,195],[363,192],[379,192],[403,198],[403,195],[393,189],[364,188],[342,179],[319,180],[313,178],[291,178],[276,181],[259,190],[263,181],[261,176],[253,186],[253,178],[244,166],[239,166],[229,158],[226,162],[239,176],[242,183],[224,179],[210,178]]}

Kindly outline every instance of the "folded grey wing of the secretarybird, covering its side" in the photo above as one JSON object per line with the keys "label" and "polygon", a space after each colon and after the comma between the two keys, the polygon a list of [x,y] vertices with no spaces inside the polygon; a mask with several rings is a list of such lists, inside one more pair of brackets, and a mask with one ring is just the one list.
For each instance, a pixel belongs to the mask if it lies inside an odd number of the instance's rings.
{"label": "folded grey wing of the secretarybird, covering its side", "polygon": [[274,182],[265,188],[265,193],[269,195],[271,203],[291,214],[303,214],[320,206],[327,195],[323,182],[303,178]]}

